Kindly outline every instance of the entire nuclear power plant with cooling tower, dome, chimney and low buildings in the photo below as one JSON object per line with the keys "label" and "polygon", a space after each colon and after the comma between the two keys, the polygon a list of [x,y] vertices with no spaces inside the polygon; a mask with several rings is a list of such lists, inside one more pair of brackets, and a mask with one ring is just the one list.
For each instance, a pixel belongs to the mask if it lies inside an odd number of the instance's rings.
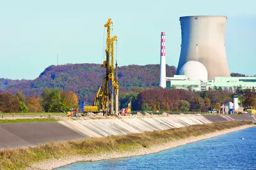
{"label": "entire nuclear power plant with cooling tower, dome, chimney and low buildings", "polygon": [[177,73],[166,77],[165,32],[161,32],[159,86],[184,90],[256,89],[256,77],[231,77],[225,52],[224,16],[180,17],[182,43]]}

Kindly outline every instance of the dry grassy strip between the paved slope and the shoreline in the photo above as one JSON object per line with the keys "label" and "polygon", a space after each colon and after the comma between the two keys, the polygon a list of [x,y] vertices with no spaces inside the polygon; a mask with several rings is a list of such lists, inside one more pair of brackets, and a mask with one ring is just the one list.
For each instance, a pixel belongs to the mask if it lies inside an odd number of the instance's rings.
{"label": "dry grassy strip between the paved slope and the shoreline", "polygon": [[252,122],[234,121],[215,124],[192,125],[165,131],[143,132],[107,138],[86,138],[65,143],[47,143],[36,147],[6,149],[0,151],[0,169],[24,169],[36,162],[60,159],[77,155],[100,155],[100,153],[136,151],[150,148],[170,141],[200,136],[211,132],[222,131],[251,125]]}

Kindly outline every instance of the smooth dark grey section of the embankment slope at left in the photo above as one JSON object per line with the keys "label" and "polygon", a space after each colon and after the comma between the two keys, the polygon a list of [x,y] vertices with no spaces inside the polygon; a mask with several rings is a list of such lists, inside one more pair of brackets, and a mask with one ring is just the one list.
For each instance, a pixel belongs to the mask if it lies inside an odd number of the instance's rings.
{"label": "smooth dark grey section of the embankment slope at left", "polygon": [[81,134],[58,122],[0,124],[0,150],[80,138]]}

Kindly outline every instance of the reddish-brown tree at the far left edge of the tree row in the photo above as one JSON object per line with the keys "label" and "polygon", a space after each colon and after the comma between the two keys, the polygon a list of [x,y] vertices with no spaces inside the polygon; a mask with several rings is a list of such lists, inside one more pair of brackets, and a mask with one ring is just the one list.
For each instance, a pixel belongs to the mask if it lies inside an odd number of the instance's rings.
{"label": "reddish-brown tree at the far left edge of the tree row", "polygon": [[12,113],[19,111],[19,99],[13,94],[0,94],[0,110],[4,113]]}

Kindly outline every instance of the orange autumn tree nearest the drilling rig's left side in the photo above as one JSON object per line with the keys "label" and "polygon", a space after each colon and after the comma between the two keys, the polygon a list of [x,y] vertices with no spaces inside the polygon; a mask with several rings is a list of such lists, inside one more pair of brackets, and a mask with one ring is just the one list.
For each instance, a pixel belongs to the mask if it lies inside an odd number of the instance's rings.
{"label": "orange autumn tree nearest the drilling rig's left side", "polygon": [[74,92],[63,92],[61,94],[61,100],[64,110],[68,110],[69,108],[77,108],[78,106],[77,95]]}

